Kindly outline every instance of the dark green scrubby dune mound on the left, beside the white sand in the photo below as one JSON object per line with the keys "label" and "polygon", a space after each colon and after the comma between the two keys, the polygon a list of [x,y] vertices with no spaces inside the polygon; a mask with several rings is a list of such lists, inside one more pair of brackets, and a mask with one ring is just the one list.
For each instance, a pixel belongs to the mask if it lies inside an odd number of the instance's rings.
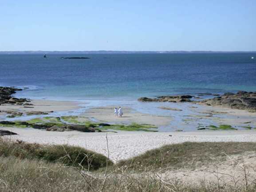
{"label": "dark green scrubby dune mound on the left, beside the white sand", "polygon": [[[23,141],[8,142],[0,139],[0,156],[20,159],[58,162],[67,166],[79,166],[96,170],[106,166],[107,158],[101,154],[68,145],[39,145]],[[108,165],[113,165],[108,160]]]}

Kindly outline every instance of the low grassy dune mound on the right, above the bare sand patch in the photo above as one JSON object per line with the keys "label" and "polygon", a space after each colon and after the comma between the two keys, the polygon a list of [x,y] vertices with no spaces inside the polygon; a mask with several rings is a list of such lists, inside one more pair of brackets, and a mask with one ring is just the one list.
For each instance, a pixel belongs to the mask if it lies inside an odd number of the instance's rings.
{"label": "low grassy dune mound on the right, above the bare sand patch", "polygon": [[226,155],[245,151],[255,151],[256,143],[249,142],[185,142],[153,149],[137,157],[120,161],[117,166],[125,166],[135,172],[158,171],[159,169],[179,169],[207,166],[209,163],[224,161]]}

